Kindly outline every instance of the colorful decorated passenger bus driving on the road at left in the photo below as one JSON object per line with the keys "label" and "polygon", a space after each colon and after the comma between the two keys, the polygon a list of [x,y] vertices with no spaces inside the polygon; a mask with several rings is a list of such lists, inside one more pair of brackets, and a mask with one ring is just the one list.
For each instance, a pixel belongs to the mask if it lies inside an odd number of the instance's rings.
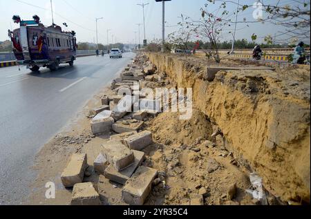
{"label": "colorful decorated passenger bus driving on the road at left", "polygon": [[64,32],[60,26],[44,26],[36,15],[34,21],[21,21],[14,16],[15,23],[20,23],[16,30],[8,30],[12,40],[13,52],[17,63],[27,66],[32,71],[40,67],[57,70],[59,64],[73,66],[76,59],[75,32]]}

